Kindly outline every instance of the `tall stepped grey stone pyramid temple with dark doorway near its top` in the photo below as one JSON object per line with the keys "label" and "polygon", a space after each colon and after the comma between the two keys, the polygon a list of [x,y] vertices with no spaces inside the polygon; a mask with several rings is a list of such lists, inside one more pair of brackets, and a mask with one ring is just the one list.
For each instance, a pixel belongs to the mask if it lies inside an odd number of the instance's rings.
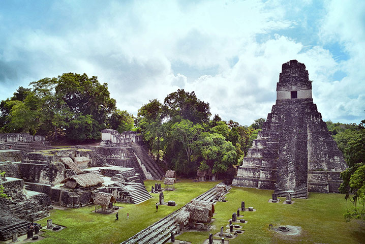
{"label": "tall stepped grey stone pyramid temple with dark doorway near its top", "polygon": [[308,192],[338,192],[346,164],[312,99],[304,64],[283,64],[277,100],[248,150],[232,185],[275,190],[307,198]]}

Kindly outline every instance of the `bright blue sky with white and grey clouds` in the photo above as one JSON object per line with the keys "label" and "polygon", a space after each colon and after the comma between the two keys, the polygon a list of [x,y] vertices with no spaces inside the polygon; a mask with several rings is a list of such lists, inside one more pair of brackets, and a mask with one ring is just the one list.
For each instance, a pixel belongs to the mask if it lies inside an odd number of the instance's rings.
{"label": "bright blue sky with white and grey clouds", "polygon": [[283,63],[306,65],[324,121],[365,119],[365,1],[2,1],[0,100],[86,73],[117,108],[194,91],[251,125],[276,102]]}

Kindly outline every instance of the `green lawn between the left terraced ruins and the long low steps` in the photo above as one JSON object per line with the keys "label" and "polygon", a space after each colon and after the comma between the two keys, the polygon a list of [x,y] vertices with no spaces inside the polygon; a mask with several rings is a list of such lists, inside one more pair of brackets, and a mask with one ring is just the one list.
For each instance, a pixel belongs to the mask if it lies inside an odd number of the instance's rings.
{"label": "green lawn between the left terraced ruins and the long low steps", "polygon": [[[161,184],[163,188],[163,181],[144,181],[148,191],[151,186],[155,186],[155,183]],[[51,210],[50,217],[38,221],[38,223],[47,226],[47,219],[52,219],[54,224],[67,228],[57,232],[45,230],[46,233],[43,236],[46,238],[37,243],[120,243],[184,206],[216,184],[218,182],[179,180],[175,184],[174,191],[164,191],[165,202],[174,200],[177,205],[173,207],[160,205],[158,212],[156,212],[155,204],[159,202],[159,194],[151,194],[153,198],[137,205],[117,203],[116,205],[121,207],[118,221],[114,221],[115,213],[104,215],[92,212],[95,210],[95,205],[66,210],[54,209]],[[127,213],[129,213],[128,220]]]}

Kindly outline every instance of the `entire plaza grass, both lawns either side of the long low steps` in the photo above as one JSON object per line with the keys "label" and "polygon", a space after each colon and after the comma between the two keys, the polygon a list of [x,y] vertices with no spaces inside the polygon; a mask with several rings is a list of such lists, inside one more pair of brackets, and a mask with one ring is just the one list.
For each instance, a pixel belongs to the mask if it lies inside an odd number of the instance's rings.
{"label": "entire plaza grass, both lawns either side of the long low steps", "polygon": [[[145,186],[150,190],[155,182],[146,180]],[[78,209],[52,210],[54,224],[66,226],[59,232],[46,230],[43,243],[120,243],[133,236],[150,224],[160,220],[170,212],[180,208],[191,199],[207,191],[217,182],[193,182],[180,180],[175,184],[175,191],[164,192],[165,202],[174,200],[177,206],[160,206],[156,212],[155,203],[158,194],[138,205],[118,203],[119,221],[114,221],[115,215],[94,214],[94,206]],[[216,214],[212,225],[216,226],[211,232],[185,232],[176,239],[183,239],[192,243],[202,243],[209,233],[216,234],[221,226],[226,226],[232,213],[240,207],[241,201],[246,207],[253,206],[257,211],[245,211],[247,224],[245,233],[230,240],[230,243],[365,243],[365,224],[359,221],[346,223],[343,212],[351,202],[346,202],[342,194],[310,193],[309,199],[293,199],[292,205],[268,203],[272,191],[233,187],[226,195],[227,202],[215,205]],[[127,220],[127,212],[130,218]],[[40,221],[46,225],[46,219]],[[298,236],[283,236],[268,230],[268,225],[293,225],[302,228]],[[226,227],[225,227],[226,229]]]}

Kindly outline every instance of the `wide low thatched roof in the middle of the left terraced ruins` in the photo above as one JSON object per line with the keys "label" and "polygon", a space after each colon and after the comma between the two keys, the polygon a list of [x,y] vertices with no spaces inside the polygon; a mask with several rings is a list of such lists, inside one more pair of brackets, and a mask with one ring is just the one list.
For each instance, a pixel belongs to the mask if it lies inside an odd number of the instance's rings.
{"label": "wide low thatched roof in the middle of the left terraced ruins", "polygon": [[68,188],[87,188],[94,187],[103,184],[104,180],[95,173],[72,175],[62,180],[61,183],[65,183]]}

